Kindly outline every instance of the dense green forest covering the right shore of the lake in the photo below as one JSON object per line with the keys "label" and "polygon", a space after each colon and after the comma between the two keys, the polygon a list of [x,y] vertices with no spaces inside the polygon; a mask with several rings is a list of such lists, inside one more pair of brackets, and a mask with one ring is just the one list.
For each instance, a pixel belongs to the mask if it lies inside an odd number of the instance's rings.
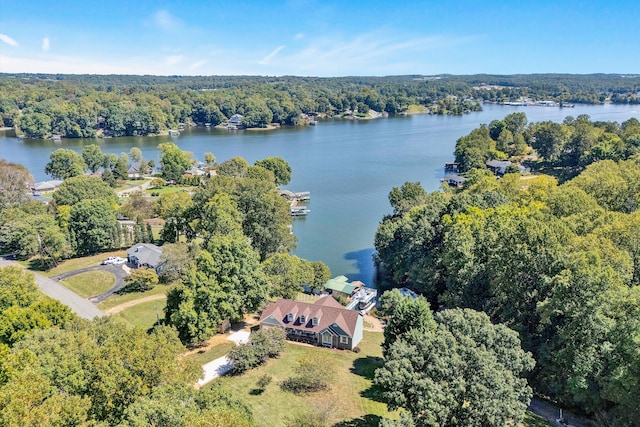
{"label": "dense green forest covering the right shore of the lake", "polygon": [[[517,115],[499,122],[458,141],[458,160],[480,156],[463,162],[462,188],[427,194],[405,183],[391,191],[393,214],[375,238],[384,280],[421,292],[433,309],[487,313],[533,354],[537,394],[607,425],[636,425],[639,123],[579,117],[525,126]],[[492,131],[501,127],[495,139],[527,135],[540,156],[532,165],[560,170],[564,182],[520,173],[496,179],[485,159],[516,147],[496,148]]]}

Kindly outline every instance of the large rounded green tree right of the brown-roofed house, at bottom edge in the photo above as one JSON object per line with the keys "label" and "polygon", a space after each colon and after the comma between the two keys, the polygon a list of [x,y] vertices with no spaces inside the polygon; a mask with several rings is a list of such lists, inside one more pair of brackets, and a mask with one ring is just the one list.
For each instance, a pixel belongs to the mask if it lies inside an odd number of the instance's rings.
{"label": "large rounded green tree right of the brown-roofed house, at bottom edge", "polygon": [[532,392],[521,378],[534,361],[518,335],[473,310],[436,314],[437,329],[400,339],[376,371],[389,409],[416,426],[518,424]]}

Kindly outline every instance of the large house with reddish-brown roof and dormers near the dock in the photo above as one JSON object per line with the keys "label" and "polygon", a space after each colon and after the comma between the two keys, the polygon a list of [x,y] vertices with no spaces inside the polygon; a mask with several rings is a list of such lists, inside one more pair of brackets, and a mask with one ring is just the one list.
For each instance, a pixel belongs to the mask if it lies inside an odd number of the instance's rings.
{"label": "large house with reddish-brown roof and dormers near the dock", "polygon": [[327,295],[315,303],[279,299],[260,316],[260,328],[281,328],[287,339],[317,346],[353,350],[362,340],[362,315]]}

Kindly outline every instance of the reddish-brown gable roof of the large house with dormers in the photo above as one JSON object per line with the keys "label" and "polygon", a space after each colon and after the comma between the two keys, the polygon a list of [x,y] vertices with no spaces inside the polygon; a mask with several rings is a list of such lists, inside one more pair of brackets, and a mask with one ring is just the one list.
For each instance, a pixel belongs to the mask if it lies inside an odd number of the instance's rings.
{"label": "reddish-brown gable roof of the large house with dormers", "polygon": [[[292,314],[291,320],[288,320],[288,314]],[[304,322],[301,320],[302,316],[304,316]],[[332,296],[327,295],[314,304],[279,299],[264,309],[260,316],[260,323],[306,332],[320,333],[329,330],[336,335],[346,334],[353,337],[359,316],[359,312],[347,310]],[[318,319],[317,325],[313,324],[314,318]]]}

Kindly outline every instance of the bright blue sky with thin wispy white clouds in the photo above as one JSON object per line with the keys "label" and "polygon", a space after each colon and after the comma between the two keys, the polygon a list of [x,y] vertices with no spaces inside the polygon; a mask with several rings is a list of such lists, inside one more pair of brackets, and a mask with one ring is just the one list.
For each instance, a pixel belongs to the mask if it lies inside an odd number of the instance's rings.
{"label": "bright blue sky with thin wispy white clouds", "polygon": [[639,4],[2,0],[0,72],[636,74]]}

